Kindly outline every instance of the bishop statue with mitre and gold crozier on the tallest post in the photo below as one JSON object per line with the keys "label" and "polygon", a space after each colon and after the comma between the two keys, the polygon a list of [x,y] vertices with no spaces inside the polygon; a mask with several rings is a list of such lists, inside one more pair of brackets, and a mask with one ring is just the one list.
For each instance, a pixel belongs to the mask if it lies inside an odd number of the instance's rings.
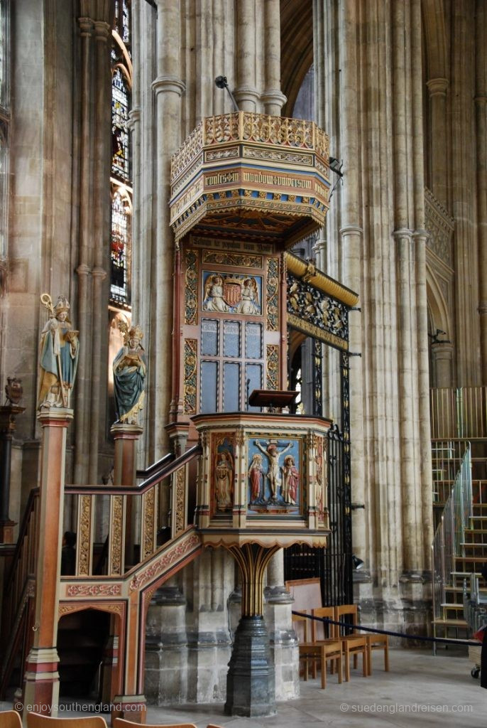
{"label": "bishop statue with mitre and gold crozier on the tallest post", "polygon": [[41,303],[49,312],[49,320],[41,333],[37,406],[69,407],[78,368],[79,331],[73,331],[65,296],[59,296],[53,307],[49,293],[43,293]]}

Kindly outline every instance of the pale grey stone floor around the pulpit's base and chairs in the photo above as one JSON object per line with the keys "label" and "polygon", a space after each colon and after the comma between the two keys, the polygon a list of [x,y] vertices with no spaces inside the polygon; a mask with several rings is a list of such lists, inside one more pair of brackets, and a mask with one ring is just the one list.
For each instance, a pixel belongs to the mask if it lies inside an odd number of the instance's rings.
{"label": "pale grey stone floor around the pulpit's base and chairs", "polygon": [[[472,663],[464,654],[442,649],[433,657],[426,650],[393,649],[390,672],[382,667],[382,653],[377,653],[369,678],[353,670],[351,681],[339,685],[336,676],[328,676],[326,690],[319,680],[301,681],[299,700],[279,703],[277,715],[271,718],[232,718],[223,714],[222,705],[150,705],[147,722],[188,722],[198,728],[209,723],[230,728],[486,726],[487,692],[470,675]],[[0,703],[0,709],[11,707],[11,703]],[[89,712],[64,712],[74,714]]]}

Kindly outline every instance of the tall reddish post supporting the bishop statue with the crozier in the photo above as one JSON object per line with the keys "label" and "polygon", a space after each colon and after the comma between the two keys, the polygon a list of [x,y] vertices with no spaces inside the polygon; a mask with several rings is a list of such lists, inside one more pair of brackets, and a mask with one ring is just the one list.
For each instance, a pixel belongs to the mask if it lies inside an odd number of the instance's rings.
{"label": "tall reddish post supporting the bishop statue with the crozier", "polygon": [[59,673],[57,619],[59,611],[66,431],[73,410],[41,411],[41,486],[39,550],[36,561],[34,638],[25,666],[24,705],[39,705],[40,713],[57,715]]}

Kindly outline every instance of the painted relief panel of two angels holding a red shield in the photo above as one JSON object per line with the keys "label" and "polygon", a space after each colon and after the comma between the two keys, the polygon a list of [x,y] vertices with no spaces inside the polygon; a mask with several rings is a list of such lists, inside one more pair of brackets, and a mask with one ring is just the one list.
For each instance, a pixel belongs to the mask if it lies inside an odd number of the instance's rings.
{"label": "painted relief panel of two angels holding a red shield", "polygon": [[259,316],[261,301],[261,276],[204,271],[204,311]]}

